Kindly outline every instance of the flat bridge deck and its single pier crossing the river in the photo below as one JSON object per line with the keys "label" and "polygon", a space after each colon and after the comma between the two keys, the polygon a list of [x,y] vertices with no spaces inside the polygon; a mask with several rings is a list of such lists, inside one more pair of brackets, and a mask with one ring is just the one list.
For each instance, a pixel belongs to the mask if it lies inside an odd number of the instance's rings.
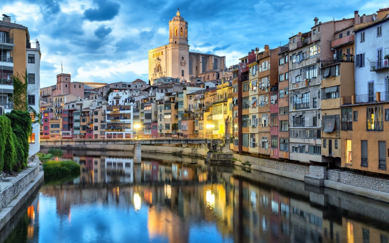
{"label": "flat bridge deck and its single pier crossing the river", "polygon": [[208,146],[210,150],[223,139],[207,138],[158,138],[158,139],[40,139],[41,146],[52,148],[77,148],[93,150],[129,150],[129,146],[134,148],[134,163],[141,163],[141,145],[184,145],[193,144],[195,146]]}

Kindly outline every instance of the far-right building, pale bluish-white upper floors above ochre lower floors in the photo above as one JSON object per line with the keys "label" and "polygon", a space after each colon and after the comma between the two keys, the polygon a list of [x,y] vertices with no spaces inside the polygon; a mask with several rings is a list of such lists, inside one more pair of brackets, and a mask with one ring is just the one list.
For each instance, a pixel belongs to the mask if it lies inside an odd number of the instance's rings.
{"label": "far-right building, pale bluish-white upper floors above ochre lower floors", "polygon": [[380,9],[376,20],[355,26],[355,95],[340,106],[341,166],[380,174],[389,174],[388,14]]}

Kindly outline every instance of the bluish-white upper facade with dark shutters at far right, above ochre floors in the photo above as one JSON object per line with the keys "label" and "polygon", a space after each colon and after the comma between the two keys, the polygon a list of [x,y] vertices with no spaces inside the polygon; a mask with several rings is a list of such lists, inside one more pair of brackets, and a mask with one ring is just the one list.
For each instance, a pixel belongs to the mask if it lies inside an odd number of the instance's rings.
{"label": "bluish-white upper facade with dark shutters at far right, above ochre floors", "polygon": [[389,17],[355,30],[355,102],[389,101]]}

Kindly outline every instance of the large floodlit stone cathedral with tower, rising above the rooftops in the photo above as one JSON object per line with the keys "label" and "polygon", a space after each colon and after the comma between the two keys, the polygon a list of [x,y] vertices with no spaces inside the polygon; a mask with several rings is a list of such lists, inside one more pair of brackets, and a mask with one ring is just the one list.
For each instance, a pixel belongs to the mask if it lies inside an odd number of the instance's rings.
{"label": "large floodlit stone cathedral with tower, rising above the rooftops", "polygon": [[169,44],[149,51],[149,80],[153,84],[161,77],[178,78],[191,82],[197,77],[202,81],[220,79],[225,68],[225,56],[189,52],[188,22],[177,14],[169,21]]}

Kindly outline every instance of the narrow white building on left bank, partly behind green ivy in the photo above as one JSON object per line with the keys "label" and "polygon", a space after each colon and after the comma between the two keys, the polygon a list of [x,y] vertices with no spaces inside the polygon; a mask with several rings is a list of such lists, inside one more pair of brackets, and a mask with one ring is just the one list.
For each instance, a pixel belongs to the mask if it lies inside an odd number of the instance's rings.
{"label": "narrow white building on left bank, partly behind green ivy", "polygon": [[[32,42],[26,49],[26,67],[27,67],[27,101],[30,115],[32,117],[32,133],[29,139],[30,151],[28,156],[33,156],[40,150],[39,142],[39,120],[35,114],[39,114],[39,86],[40,86],[40,48],[39,42]],[[35,111],[35,113],[33,112]],[[34,119],[33,119],[34,117]]]}

